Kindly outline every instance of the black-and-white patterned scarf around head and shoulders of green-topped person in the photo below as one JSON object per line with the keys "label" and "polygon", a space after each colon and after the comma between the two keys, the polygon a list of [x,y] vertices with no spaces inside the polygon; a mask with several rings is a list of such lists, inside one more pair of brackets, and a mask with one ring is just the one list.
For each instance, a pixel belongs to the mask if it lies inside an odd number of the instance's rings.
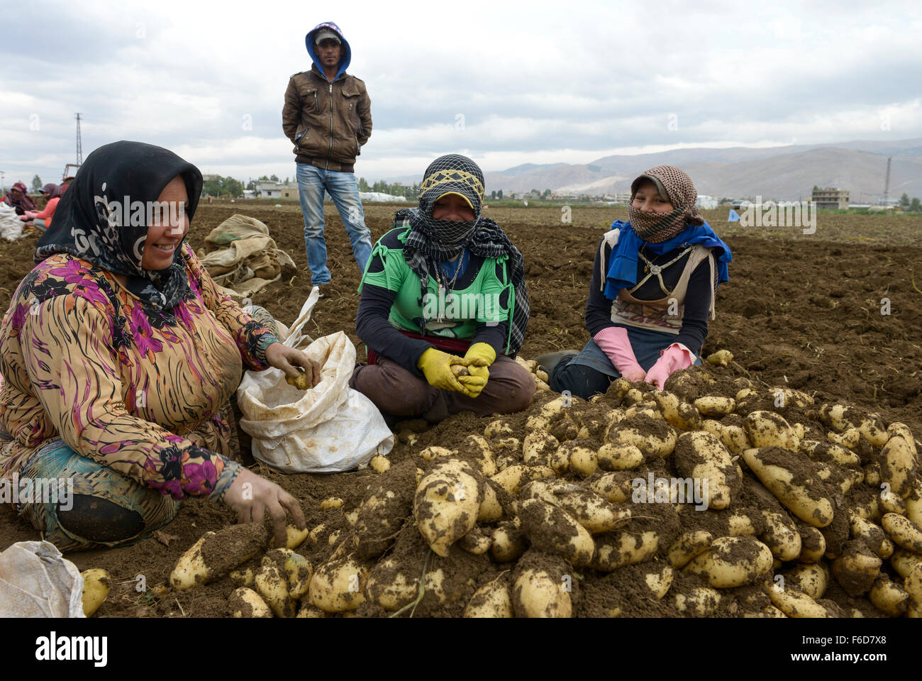
{"label": "black-and-white patterned scarf around head and shoulders of green-topped person", "polygon": [[[467,156],[447,154],[432,161],[420,185],[419,207],[397,211],[396,221],[408,220],[412,229],[404,245],[407,264],[420,277],[420,301],[428,293],[430,275],[445,289],[448,276],[439,263],[465,248],[480,257],[509,256],[510,283],[514,287],[513,315],[509,324],[507,353],[514,355],[525,341],[530,308],[525,285],[525,261],[502,228],[480,215],[483,205],[483,173]],[[445,194],[457,194],[474,210],[474,220],[434,220],[432,207]],[[425,325],[420,333],[425,335]]]}

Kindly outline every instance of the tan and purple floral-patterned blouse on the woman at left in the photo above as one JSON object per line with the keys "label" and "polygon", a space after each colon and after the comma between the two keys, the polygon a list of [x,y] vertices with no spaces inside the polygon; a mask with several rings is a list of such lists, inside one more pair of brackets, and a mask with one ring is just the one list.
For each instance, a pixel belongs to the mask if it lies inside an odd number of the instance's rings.
{"label": "tan and purple floral-patterned blouse on the woman at left", "polygon": [[193,296],[169,311],[67,254],[19,284],[0,326],[0,474],[60,437],[174,498],[223,496],[240,470],[231,396],[276,338],[183,257]]}

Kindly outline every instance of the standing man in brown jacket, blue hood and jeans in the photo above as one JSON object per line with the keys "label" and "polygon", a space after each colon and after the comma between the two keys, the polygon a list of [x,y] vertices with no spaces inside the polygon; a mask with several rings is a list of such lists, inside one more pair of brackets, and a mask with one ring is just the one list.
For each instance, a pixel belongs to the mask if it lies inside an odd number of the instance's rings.
{"label": "standing man in brown jacket, blue hood and jeans", "polygon": [[332,21],[314,27],[304,38],[313,66],[296,73],[285,90],[282,130],[294,144],[298,192],[304,213],[304,245],[314,286],[330,281],[324,239],[324,191],[333,198],[346,225],[352,253],[364,272],[372,255],[372,233],[365,226],[355,157],[372,136],[372,102],[365,83],[349,76],[349,42]]}

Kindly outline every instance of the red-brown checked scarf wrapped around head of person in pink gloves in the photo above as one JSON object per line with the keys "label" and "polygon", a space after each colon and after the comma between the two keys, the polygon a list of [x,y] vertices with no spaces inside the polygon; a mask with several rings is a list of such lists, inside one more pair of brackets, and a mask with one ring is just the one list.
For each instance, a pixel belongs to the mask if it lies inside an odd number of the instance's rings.
{"label": "red-brown checked scarf wrapped around head of person in pink gloves", "polygon": [[[672,204],[672,210],[649,213],[634,209],[633,197],[646,180],[656,185],[659,196]],[[673,165],[657,165],[631,183],[631,204],[628,206],[631,229],[650,244],[668,241],[690,224],[704,224],[702,214],[694,207],[697,198],[698,192],[691,183],[691,177],[684,171]]]}

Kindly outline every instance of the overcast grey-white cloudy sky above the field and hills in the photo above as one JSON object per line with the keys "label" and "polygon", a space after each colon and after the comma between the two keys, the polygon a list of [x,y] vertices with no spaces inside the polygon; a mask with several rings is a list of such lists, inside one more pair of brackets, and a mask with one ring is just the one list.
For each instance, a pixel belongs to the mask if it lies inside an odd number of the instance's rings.
{"label": "overcast grey-white cloudy sky above the field and hills", "polygon": [[293,177],[283,95],[311,66],[304,34],[325,20],[345,33],[349,73],[372,99],[356,165],[370,181],[421,175],[451,151],[500,171],[677,147],[922,137],[917,2],[322,6],[3,0],[15,28],[0,40],[6,186],[60,179],[77,111],[85,157],[135,139],[203,173]]}

